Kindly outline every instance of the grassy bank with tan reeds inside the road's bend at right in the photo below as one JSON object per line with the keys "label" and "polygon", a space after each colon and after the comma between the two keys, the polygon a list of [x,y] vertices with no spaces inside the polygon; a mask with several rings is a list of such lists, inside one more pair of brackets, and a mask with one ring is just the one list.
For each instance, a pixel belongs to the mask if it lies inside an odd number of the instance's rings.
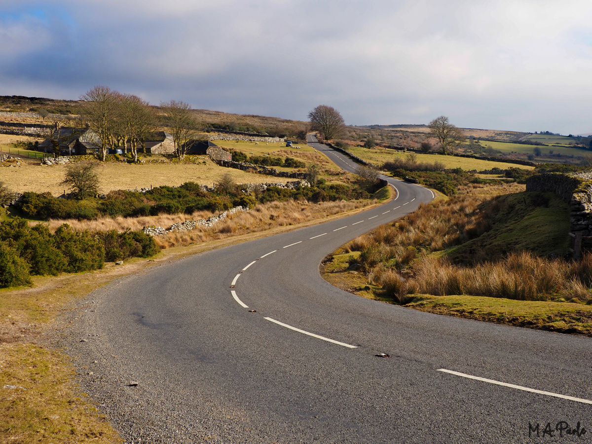
{"label": "grassy bank with tan reeds inside the road's bend at right", "polygon": [[323,261],[324,278],[432,313],[592,336],[592,255],[562,258],[567,205],[460,191],[346,244]]}

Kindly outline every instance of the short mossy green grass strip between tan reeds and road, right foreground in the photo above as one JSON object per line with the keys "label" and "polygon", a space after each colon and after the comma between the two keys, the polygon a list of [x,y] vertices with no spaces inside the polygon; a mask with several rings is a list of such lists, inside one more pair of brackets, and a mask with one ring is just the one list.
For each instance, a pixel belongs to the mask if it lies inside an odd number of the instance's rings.
{"label": "short mossy green grass strip between tan reeds and road, right foreground", "polygon": [[414,295],[405,306],[498,324],[592,336],[592,305],[468,295]]}

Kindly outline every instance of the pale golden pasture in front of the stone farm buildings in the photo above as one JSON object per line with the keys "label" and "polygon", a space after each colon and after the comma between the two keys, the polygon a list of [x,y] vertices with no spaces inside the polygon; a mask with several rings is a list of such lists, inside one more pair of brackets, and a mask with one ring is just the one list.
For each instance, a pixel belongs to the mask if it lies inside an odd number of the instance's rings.
{"label": "pale golden pasture in front of the stone farm buildings", "polygon": [[[207,165],[163,164],[131,165],[123,162],[105,162],[99,164],[99,188],[107,193],[115,189],[140,189],[152,186],[178,186],[184,182],[197,182],[212,186],[221,176],[230,173],[239,184],[260,184],[262,182],[282,182],[287,179],[275,178],[238,169],[224,168],[207,160]],[[11,191],[50,192],[60,195],[64,187],[60,185],[66,171],[66,165],[40,166],[26,163],[19,168],[0,168],[0,181]]]}

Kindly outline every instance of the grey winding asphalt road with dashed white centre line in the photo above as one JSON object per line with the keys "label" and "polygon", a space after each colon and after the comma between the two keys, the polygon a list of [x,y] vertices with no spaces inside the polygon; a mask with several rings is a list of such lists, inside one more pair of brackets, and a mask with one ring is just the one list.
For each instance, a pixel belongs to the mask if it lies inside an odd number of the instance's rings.
{"label": "grey winding asphalt road with dashed white centre line", "polygon": [[[592,442],[589,338],[422,313],[321,278],[327,253],[432,199],[390,181],[397,200],[378,208],[92,294],[66,341],[83,388],[128,442]],[[556,430],[578,422],[580,436]]]}

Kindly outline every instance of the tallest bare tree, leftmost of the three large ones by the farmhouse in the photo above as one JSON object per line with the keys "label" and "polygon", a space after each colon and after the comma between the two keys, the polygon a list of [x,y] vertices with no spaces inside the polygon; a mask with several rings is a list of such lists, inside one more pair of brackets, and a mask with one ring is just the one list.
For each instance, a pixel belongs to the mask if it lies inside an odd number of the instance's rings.
{"label": "tallest bare tree, leftmost of the three large ones by the farmhouse", "polygon": [[101,160],[107,157],[107,150],[114,146],[114,134],[117,132],[117,111],[120,94],[108,86],[95,86],[81,96],[85,101],[84,114],[88,126],[101,139]]}

